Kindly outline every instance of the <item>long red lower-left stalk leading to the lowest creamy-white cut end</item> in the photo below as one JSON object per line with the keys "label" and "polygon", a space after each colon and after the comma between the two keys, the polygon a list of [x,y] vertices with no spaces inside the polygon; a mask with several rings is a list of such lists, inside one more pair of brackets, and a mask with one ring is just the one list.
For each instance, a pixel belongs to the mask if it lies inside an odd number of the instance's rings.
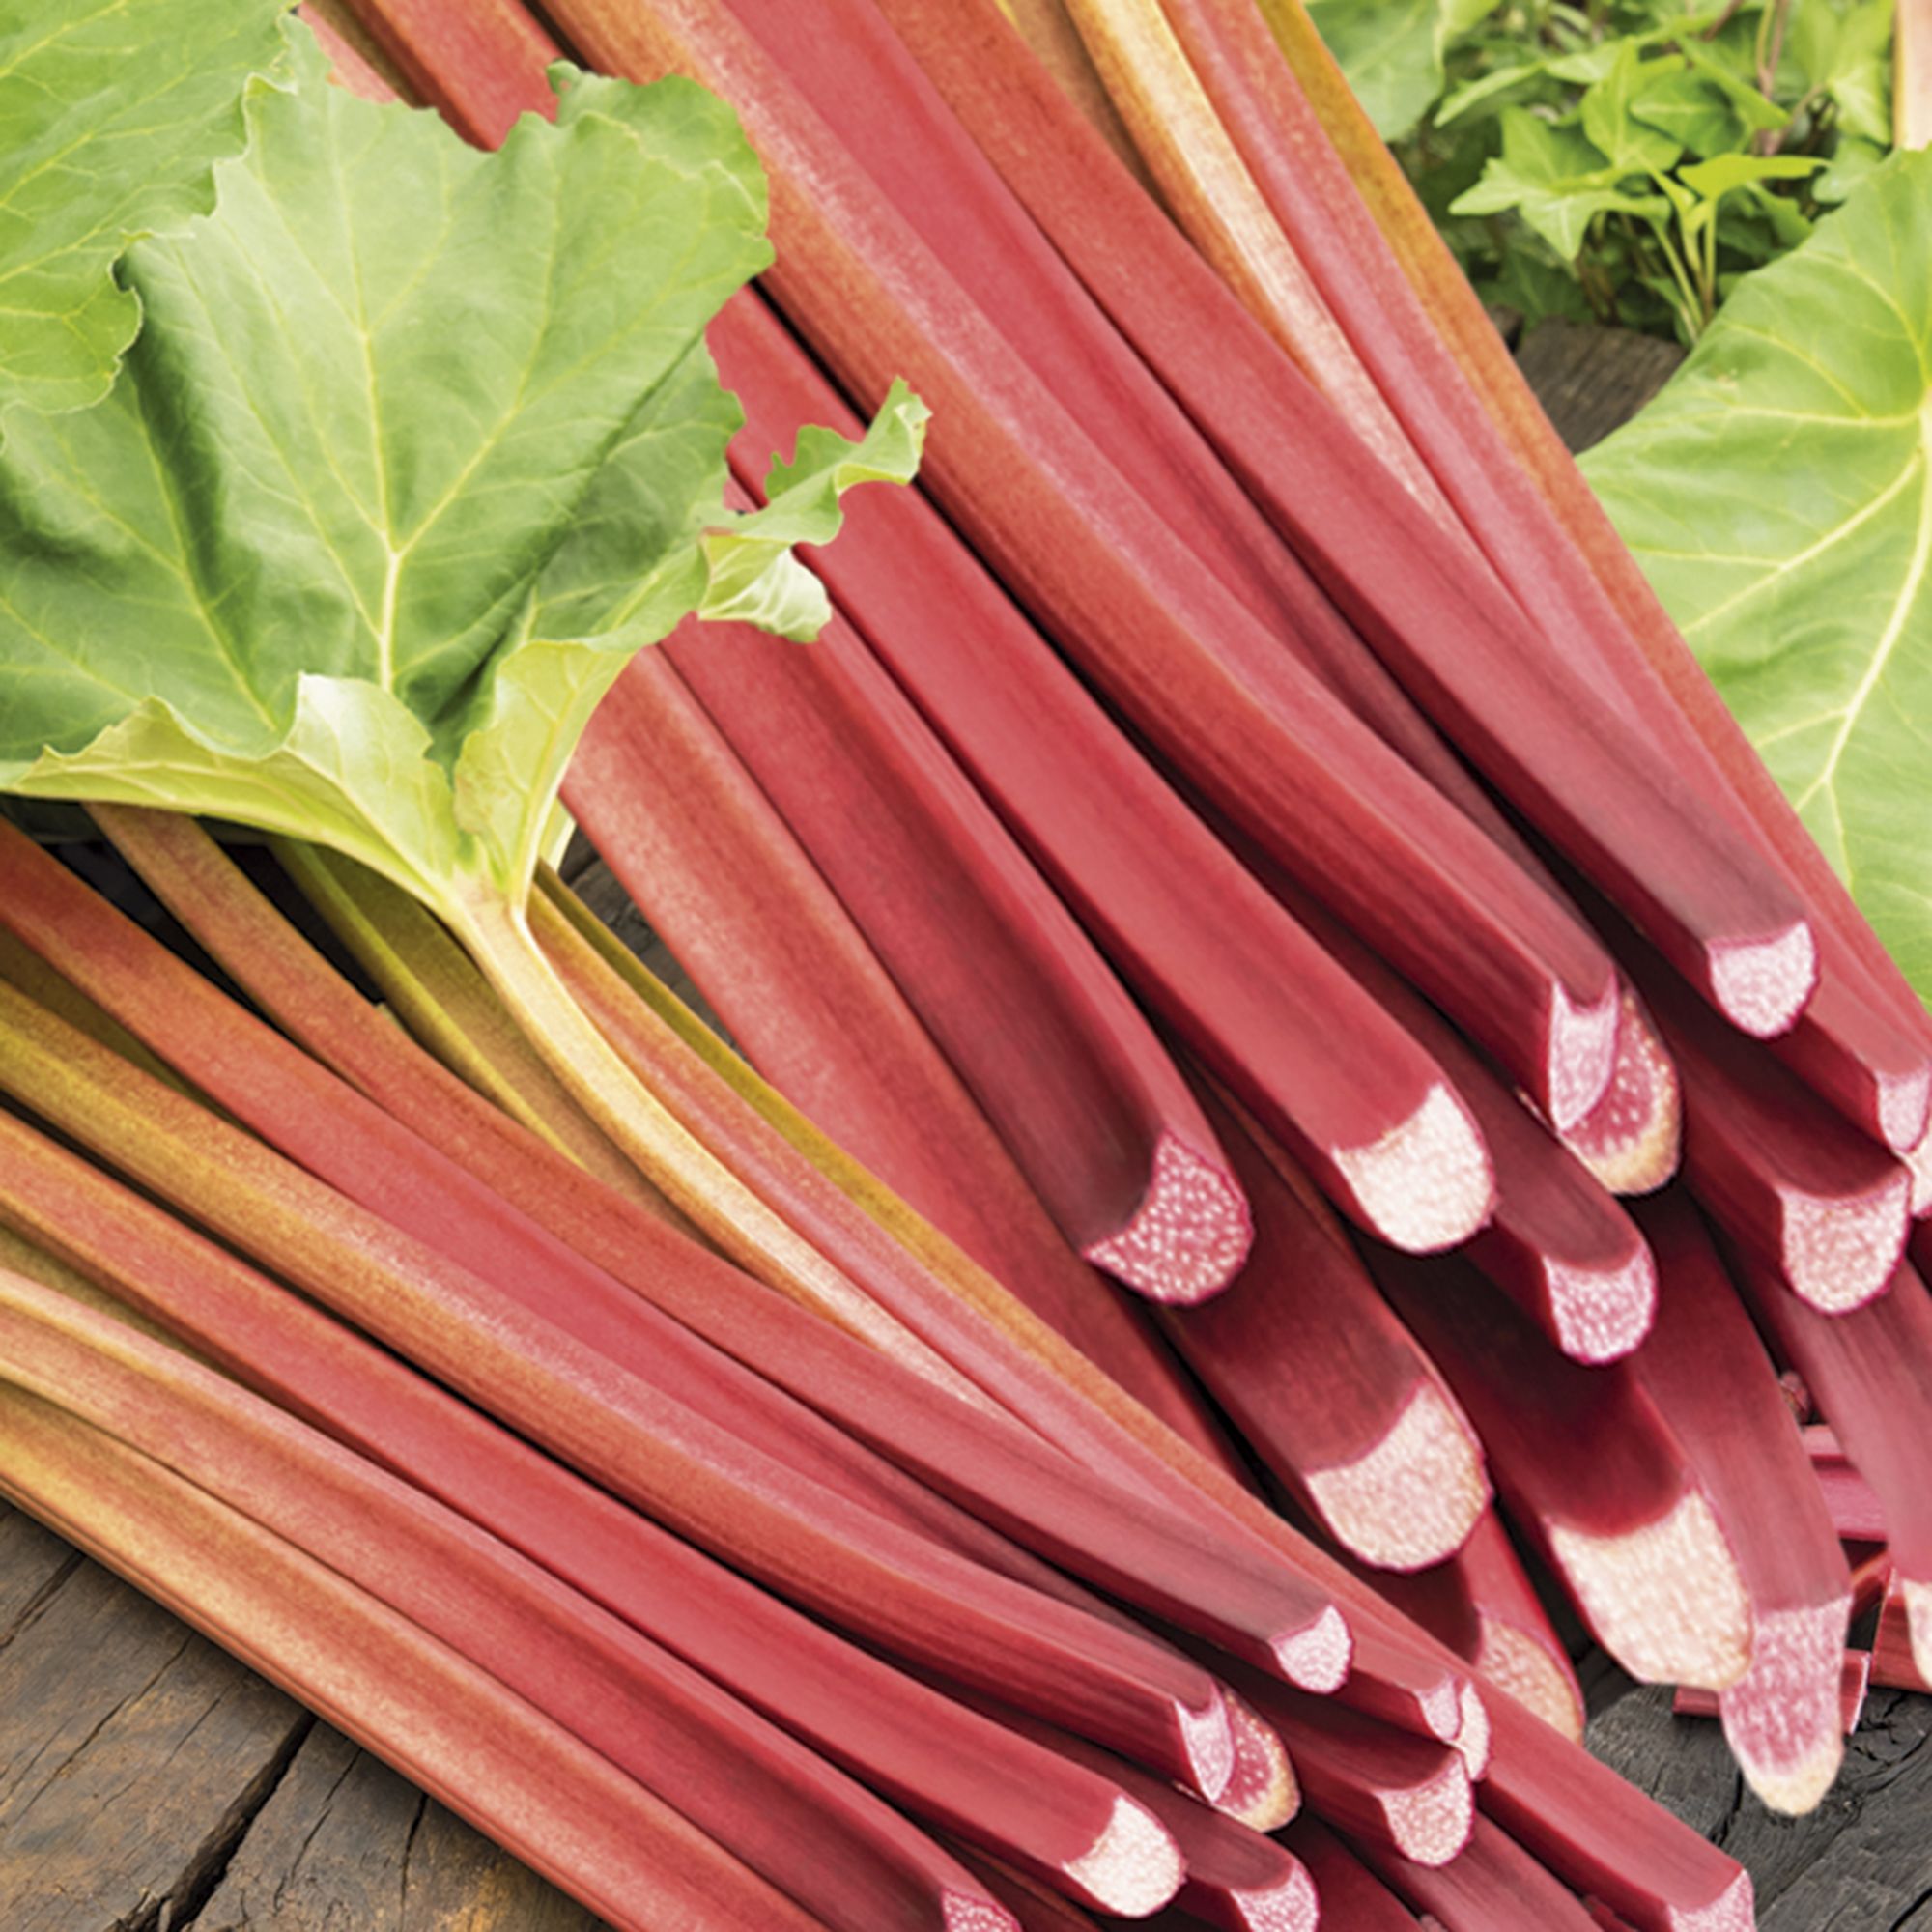
{"label": "long red lower-left stalk leading to the lowest creamy-white cut end", "polygon": [[[655,1636],[896,1803],[1095,1903],[1117,1793],[572,1476],[311,1302],[0,1115],[0,1200],[124,1304]],[[1072,1874],[1086,1872],[1086,1880]]]}

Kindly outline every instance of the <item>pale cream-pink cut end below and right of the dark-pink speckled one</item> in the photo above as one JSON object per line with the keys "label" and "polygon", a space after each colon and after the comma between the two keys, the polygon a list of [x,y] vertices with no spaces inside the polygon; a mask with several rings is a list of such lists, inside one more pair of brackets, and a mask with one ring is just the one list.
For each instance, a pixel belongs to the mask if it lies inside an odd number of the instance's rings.
{"label": "pale cream-pink cut end below and right of the dark-pink speckled one", "polygon": [[1364,1563],[1414,1571],[1455,1555],[1490,1501],[1482,1447],[1434,1381],[1366,1455],[1308,1476],[1327,1530]]}

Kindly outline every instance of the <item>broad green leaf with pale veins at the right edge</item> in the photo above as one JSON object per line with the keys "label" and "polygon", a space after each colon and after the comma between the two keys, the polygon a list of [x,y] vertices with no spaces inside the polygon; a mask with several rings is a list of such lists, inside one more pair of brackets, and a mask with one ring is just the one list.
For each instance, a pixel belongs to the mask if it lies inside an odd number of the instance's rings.
{"label": "broad green leaf with pale veins at the right edge", "polygon": [[1747,276],[1584,468],[1932,995],[1932,155],[1891,158]]}

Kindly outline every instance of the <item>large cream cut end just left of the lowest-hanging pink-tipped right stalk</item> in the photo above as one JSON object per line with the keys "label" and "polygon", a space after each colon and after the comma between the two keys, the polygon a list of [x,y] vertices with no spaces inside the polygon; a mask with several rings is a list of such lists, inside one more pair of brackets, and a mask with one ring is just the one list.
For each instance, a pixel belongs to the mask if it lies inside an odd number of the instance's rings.
{"label": "large cream cut end just left of the lowest-hanging pink-tipped right stalk", "polygon": [[1750,1602],[1698,1492],[1623,1536],[1551,1524],[1549,1546],[1590,1629],[1640,1683],[1729,1690],[1750,1667]]}

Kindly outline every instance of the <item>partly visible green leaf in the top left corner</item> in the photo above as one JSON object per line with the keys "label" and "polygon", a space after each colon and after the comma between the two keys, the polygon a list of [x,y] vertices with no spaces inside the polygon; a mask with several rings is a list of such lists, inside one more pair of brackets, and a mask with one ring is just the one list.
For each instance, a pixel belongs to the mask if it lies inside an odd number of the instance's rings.
{"label": "partly visible green leaf in the top left corner", "polygon": [[114,261],[209,205],[286,0],[0,0],[0,415],[99,402],[141,327]]}

